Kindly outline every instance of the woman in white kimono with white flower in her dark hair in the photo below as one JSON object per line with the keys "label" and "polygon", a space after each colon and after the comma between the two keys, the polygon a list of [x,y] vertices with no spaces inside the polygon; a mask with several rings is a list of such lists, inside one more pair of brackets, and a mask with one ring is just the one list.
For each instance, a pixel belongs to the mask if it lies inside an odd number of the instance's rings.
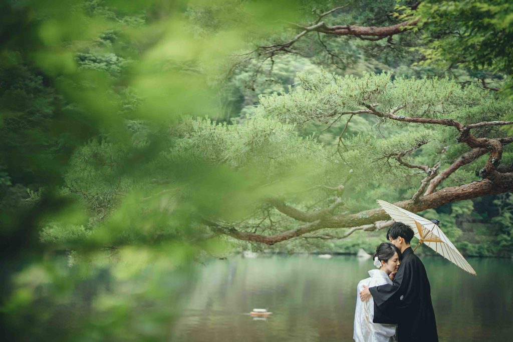
{"label": "woman in white kimono with white flower in her dark hair", "polygon": [[362,302],[360,291],[363,285],[368,287],[392,284],[393,276],[399,269],[401,252],[389,242],[376,248],[372,257],[376,270],[369,271],[369,278],[358,283],[356,312],[354,313],[353,339],[356,342],[391,342],[394,341],[397,325],[372,323],[374,318],[374,301],[372,297]]}

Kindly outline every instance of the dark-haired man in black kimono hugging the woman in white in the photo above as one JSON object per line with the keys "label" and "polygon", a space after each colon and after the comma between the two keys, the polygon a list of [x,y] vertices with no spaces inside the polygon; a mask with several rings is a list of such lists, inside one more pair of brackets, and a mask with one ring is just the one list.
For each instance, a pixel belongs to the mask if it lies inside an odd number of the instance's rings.
{"label": "dark-haired man in black kimono hugging the woman in white", "polygon": [[368,300],[372,295],[374,323],[398,324],[399,342],[438,342],[426,269],[410,247],[413,230],[396,222],[388,229],[386,236],[402,253],[399,271],[392,285],[371,288],[364,285],[360,298]]}

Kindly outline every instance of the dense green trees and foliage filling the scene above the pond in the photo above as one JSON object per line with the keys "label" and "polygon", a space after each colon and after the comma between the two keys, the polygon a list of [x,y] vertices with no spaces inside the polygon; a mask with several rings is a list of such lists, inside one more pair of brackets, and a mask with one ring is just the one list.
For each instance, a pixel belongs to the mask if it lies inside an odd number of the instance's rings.
{"label": "dense green trees and foliage filling the scene above the pond", "polygon": [[51,336],[35,289],[113,259],[370,252],[376,199],[464,255],[513,255],[511,2],[0,6],[7,334]]}

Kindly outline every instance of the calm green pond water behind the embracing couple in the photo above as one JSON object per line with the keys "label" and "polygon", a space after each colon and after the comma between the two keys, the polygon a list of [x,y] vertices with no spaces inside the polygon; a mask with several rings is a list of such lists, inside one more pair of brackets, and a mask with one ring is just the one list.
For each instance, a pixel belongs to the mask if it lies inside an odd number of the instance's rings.
{"label": "calm green pond water behind the embracing couple", "polygon": [[[471,276],[423,257],[440,341],[509,340],[513,262],[470,259]],[[213,260],[199,266],[172,341],[351,341],[356,286],[371,261],[308,255]],[[253,317],[254,308],[272,311]]]}

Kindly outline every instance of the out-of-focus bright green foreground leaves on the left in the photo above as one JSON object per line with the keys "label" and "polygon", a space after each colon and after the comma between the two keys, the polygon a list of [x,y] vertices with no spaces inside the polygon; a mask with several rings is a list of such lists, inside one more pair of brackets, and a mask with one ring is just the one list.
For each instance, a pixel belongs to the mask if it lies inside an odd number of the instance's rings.
{"label": "out-of-focus bright green foreground leaves on the left", "polygon": [[[253,200],[230,169],[169,152],[168,133],[218,115],[218,78],[246,25],[293,21],[294,2],[1,6],[3,337],[161,339],[188,266],[226,249],[197,219],[238,217]],[[199,32],[197,11],[221,25]]]}

